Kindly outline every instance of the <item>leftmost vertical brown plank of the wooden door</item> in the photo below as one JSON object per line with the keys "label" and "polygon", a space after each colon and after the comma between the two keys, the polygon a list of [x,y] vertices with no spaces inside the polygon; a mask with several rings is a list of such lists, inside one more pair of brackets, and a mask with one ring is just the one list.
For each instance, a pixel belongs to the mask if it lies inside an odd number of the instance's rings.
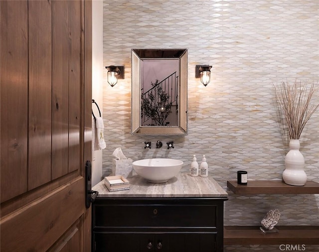
{"label": "leftmost vertical brown plank of the wooden door", "polygon": [[2,203],[27,191],[27,1],[1,0],[0,10]]}

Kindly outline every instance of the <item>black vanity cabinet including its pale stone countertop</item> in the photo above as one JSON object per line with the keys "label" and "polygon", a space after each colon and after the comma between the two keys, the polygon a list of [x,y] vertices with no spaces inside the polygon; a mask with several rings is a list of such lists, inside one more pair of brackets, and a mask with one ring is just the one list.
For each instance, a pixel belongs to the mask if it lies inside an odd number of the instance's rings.
{"label": "black vanity cabinet including its pale stone countertop", "polygon": [[212,178],[131,181],[130,190],[120,192],[108,192],[103,182],[94,187],[92,252],[223,251],[227,194]]}

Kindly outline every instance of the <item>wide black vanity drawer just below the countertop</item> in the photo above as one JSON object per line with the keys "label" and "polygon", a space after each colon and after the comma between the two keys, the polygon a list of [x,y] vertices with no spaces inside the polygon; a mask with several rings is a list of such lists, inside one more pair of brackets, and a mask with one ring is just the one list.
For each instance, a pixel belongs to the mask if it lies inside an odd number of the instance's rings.
{"label": "wide black vanity drawer just below the countertop", "polygon": [[214,205],[96,205],[95,227],[217,226]]}

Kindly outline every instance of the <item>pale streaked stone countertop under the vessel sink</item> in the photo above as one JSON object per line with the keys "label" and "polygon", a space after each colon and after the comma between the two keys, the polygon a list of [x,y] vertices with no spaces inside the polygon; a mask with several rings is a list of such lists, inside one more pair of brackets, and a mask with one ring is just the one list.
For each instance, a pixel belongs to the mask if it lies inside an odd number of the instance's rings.
{"label": "pale streaked stone countertop under the vessel sink", "polygon": [[138,175],[128,178],[128,180],[130,181],[129,190],[109,192],[104,185],[104,180],[95,185],[92,190],[99,192],[99,198],[228,197],[225,190],[221,188],[212,176],[202,178],[199,176],[191,177],[189,173],[179,173],[165,183],[151,183]]}

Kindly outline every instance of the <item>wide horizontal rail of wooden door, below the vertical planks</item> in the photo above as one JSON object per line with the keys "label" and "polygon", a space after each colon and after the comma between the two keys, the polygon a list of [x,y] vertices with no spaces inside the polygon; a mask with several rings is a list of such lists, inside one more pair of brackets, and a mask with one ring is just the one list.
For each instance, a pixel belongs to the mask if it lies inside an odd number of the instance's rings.
{"label": "wide horizontal rail of wooden door, below the vertical planks", "polygon": [[[18,210],[14,216],[3,218],[1,251],[48,250],[83,214],[83,180],[78,177]],[[30,228],[32,232],[26,232]]]}

